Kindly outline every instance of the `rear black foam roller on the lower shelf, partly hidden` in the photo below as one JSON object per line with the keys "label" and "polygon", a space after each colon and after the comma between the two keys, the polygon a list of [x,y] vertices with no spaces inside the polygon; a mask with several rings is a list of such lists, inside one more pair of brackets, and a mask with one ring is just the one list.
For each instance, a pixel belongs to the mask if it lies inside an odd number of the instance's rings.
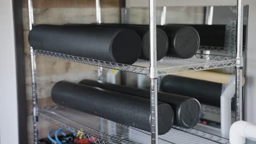
{"label": "rear black foam roller on the lower shelf, partly hidden", "polygon": [[[93,80],[82,80],[80,83],[87,86],[94,86],[107,89],[109,91],[136,95],[137,97],[150,99],[150,92],[147,89],[114,85],[112,83]],[[193,128],[199,121],[201,105],[196,99],[177,94],[159,92],[158,100],[171,105],[175,115],[174,125],[178,125],[183,128]]]}

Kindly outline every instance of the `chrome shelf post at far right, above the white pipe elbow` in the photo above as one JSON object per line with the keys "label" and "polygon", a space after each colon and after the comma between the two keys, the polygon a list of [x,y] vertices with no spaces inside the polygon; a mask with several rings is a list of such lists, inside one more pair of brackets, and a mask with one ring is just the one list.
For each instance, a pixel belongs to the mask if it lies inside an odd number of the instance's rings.
{"label": "chrome shelf post at far right, above the white pipe elbow", "polygon": [[242,76],[243,76],[243,0],[237,0],[237,67],[236,67],[236,121],[243,120]]}

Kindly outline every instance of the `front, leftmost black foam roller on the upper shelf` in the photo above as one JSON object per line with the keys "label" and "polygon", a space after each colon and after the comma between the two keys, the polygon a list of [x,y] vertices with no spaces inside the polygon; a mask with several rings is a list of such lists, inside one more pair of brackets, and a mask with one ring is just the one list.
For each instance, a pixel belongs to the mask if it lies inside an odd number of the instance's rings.
{"label": "front, leftmost black foam roller on the upper shelf", "polygon": [[142,43],[131,29],[37,25],[28,35],[34,49],[132,64],[141,55]]}

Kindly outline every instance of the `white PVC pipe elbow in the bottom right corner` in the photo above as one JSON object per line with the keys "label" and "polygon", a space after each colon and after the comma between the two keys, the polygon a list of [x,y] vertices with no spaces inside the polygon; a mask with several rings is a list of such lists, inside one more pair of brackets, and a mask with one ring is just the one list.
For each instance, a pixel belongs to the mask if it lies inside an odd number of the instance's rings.
{"label": "white PVC pipe elbow in the bottom right corner", "polygon": [[246,138],[256,139],[256,126],[245,121],[237,121],[231,125],[229,141],[231,144],[244,144]]}

